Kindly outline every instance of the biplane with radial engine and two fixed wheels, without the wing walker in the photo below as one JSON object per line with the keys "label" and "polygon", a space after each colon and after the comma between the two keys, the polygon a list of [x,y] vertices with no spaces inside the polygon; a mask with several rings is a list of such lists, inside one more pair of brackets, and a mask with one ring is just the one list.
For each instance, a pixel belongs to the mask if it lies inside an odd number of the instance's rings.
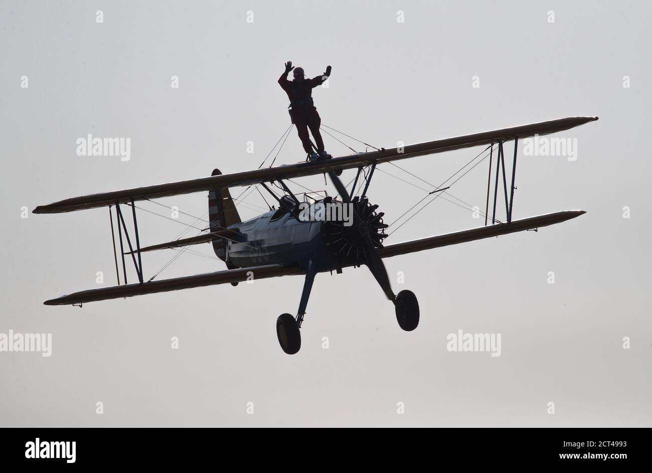
{"label": "biplane with radial engine and two fixed wheels, without the wing walker", "polygon": [[[119,235],[119,247],[123,268],[124,283],[120,284],[118,260],[116,255],[115,232],[111,216],[111,234],[113,237],[113,256],[118,279],[117,286],[102,287],[74,292],[66,296],[45,301],[46,305],[82,305],[91,301],[105,299],[129,298],[154,294],[157,292],[210,286],[230,282],[237,285],[248,279],[265,279],[271,277],[303,275],[304,284],[299,308],[294,316],[284,313],[276,320],[276,335],[281,348],[287,354],[295,354],[301,348],[300,329],[303,324],[316,274],[330,271],[342,273],[346,267],[368,267],[383,293],[394,305],[396,320],[400,328],[411,331],[419,324],[419,303],[413,292],[402,290],[394,294],[383,258],[401,254],[434,249],[447,245],[456,245],[467,241],[496,237],[524,230],[537,230],[540,227],[557,224],[574,219],[585,213],[582,210],[558,211],[537,215],[526,219],[512,220],[514,201],[514,179],[516,176],[516,154],[518,140],[533,136],[552,134],[569,130],[597,117],[569,117],[510,127],[500,130],[467,134],[454,138],[445,138],[391,149],[377,148],[375,151],[355,153],[317,161],[284,164],[269,168],[222,174],[214,170],[210,177],[191,179],[167,184],[150,185],[125,191],[102,192],[87,196],[68,198],[46,206],[38,206],[34,213],[62,213],[96,207],[115,207],[115,220]],[[512,160],[511,186],[507,184],[505,173],[505,145],[514,144]],[[383,222],[383,213],[378,206],[371,204],[367,192],[378,164],[418,156],[432,155],[464,149],[486,146],[490,149],[489,177],[487,185],[486,213],[484,226],[462,230],[449,234],[431,236],[402,243],[385,245],[387,234],[384,233],[387,224]],[[496,171],[492,186],[492,160],[496,160]],[[344,170],[357,170],[353,186],[347,189],[338,175]],[[502,170],[502,172],[501,172]],[[299,198],[286,185],[286,180],[308,175],[328,174],[338,192],[335,198],[323,196],[314,198],[314,202],[332,204],[341,202],[353,209],[352,224],[344,225],[337,220],[314,221],[314,219],[299,218]],[[499,183],[502,181],[501,195]],[[270,189],[274,184],[283,189],[281,196]],[[271,194],[278,208],[259,215],[253,219],[241,221],[237,207],[229,189],[260,185]],[[356,194],[356,187],[361,190]],[[491,191],[493,187],[493,192]],[[435,189],[430,192],[443,192],[447,188]],[[208,192],[209,225],[198,236],[177,239],[149,247],[141,247],[136,220],[135,202],[151,200],[190,192]],[[358,191],[359,192],[359,191]],[[491,223],[488,223],[490,194],[493,196],[493,213]],[[509,194],[509,195],[508,195]],[[505,218],[496,217],[497,200],[505,200]],[[305,200],[305,196],[304,196]],[[122,206],[122,207],[121,207]],[[131,207],[133,220],[133,238],[129,236],[123,208]],[[502,204],[501,204],[502,207]],[[123,238],[124,234],[124,238]],[[124,240],[128,250],[125,251]],[[160,281],[145,281],[143,279],[143,264],[141,254],[147,251],[167,248],[186,248],[190,245],[211,243],[215,255],[226,264],[226,270],[213,273],[203,273],[193,276],[175,277]],[[126,260],[132,260],[138,275],[138,282],[127,282]]]}

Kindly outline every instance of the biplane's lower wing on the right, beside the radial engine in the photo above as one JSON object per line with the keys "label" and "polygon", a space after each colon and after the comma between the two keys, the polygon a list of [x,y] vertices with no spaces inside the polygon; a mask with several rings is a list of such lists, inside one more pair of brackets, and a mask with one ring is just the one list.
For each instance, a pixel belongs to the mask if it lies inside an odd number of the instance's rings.
{"label": "biplane's lower wing on the right, beside the radial engine", "polygon": [[381,258],[389,258],[391,256],[398,256],[399,254],[408,254],[416,251],[456,245],[457,243],[466,243],[467,241],[479,240],[482,238],[522,232],[523,230],[530,230],[532,228],[539,228],[540,226],[553,225],[574,219],[584,213],[586,213],[584,210],[565,210],[537,215],[536,217],[529,217],[527,219],[512,220],[510,223],[481,226],[479,228],[471,228],[470,230],[462,230],[461,232],[404,241],[403,243],[387,245],[380,249],[380,256]]}

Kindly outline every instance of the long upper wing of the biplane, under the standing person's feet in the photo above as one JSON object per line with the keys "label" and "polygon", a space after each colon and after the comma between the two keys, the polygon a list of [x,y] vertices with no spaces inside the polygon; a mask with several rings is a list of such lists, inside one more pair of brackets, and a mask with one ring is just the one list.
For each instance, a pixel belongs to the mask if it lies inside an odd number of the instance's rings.
{"label": "long upper wing of the biplane, under the standing person's feet", "polygon": [[441,153],[453,149],[487,145],[499,141],[507,141],[514,138],[529,138],[535,134],[543,135],[563,130],[568,130],[589,121],[597,120],[597,117],[570,117],[557,120],[542,121],[531,125],[521,125],[501,130],[485,131],[454,138],[444,138],[426,143],[407,145],[401,148],[381,149],[369,153],[357,153],[355,155],[342,156],[323,161],[306,161],[296,164],[285,164],[274,168],[257,169],[253,171],[236,172],[234,174],[213,175],[179,181],[168,184],[151,185],[126,189],[125,191],[102,192],[87,196],[74,197],[60,200],[46,206],[38,206],[34,213],[60,213],[81,209],[92,209],[95,207],[110,206],[113,204],[125,204],[131,200],[145,200],[158,197],[173,196],[178,194],[189,194],[190,192],[210,191],[222,187],[237,187],[243,185],[258,184],[261,182],[301,177],[304,175],[323,174],[334,170],[345,170],[366,166],[376,161],[378,163],[398,159],[412,158],[416,156]]}

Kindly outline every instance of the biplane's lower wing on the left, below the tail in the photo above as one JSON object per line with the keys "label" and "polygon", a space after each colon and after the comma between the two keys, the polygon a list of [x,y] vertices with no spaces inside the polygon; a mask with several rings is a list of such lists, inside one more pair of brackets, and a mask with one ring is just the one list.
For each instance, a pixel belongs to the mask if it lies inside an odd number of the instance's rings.
{"label": "biplane's lower wing on the left, below the tail", "polygon": [[175,277],[161,279],[160,281],[136,282],[124,284],[123,286],[110,286],[106,288],[89,289],[75,292],[60,298],[45,301],[45,305],[70,305],[85,302],[104,301],[106,299],[130,298],[142,296],[143,294],[155,294],[156,292],[175,291],[179,289],[198,288],[211,286],[213,284],[224,284],[225,282],[241,282],[250,279],[265,279],[276,276],[291,276],[303,274],[296,266],[281,266],[280,264],[268,264],[265,266],[241,267],[216,271],[215,273],[204,273],[194,276]]}

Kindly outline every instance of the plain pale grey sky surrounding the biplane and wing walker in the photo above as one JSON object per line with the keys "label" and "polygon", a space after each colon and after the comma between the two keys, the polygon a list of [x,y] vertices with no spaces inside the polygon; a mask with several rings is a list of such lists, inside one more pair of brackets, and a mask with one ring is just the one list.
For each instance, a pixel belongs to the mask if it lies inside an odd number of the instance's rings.
{"label": "plain pale grey sky surrounding the biplane and wing walker", "polygon": [[[0,333],[52,333],[52,356],[0,352],[0,425],[649,427],[651,12],[644,2],[589,1],[3,1]],[[599,116],[559,134],[577,138],[576,161],[519,153],[516,173],[514,218],[587,213],[537,233],[386,260],[394,289],[419,298],[421,324],[410,333],[364,267],[319,275],[296,356],[282,352],[274,327],[279,314],[295,313],[301,277],[82,309],[42,305],[97,287],[96,271],[115,284],[108,211],[21,219],[21,207],[258,167],[289,126],[276,84],[288,60],[307,76],[332,65],[329,87],[314,91],[322,123],[376,146]],[[88,133],[130,138],[131,159],[77,156]],[[324,139],[333,155],[348,151]],[[398,164],[439,184],[480,151]],[[297,160],[293,131],[276,163]],[[486,168],[451,193],[484,209]],[[391,164],[379,169],[427,187]],[[334,194],[321,175],[300,182]],[[370,188],[387,222],[423,194],[383,173]],[[207,211],[203,192],[160,202]],[[246,206],[265,209],[257,192]],[[145,245],[184,230],[145,212],[138,222]],[[387,243],[481,222],[438,199]],[[194,249],[212,256],[209,245]],[[145,274],[174,254],[145,255]],[[220,269],[184,255],[160,277]],[[501,333],[501,356],[448,352],[447,334],[458,329]]]}

